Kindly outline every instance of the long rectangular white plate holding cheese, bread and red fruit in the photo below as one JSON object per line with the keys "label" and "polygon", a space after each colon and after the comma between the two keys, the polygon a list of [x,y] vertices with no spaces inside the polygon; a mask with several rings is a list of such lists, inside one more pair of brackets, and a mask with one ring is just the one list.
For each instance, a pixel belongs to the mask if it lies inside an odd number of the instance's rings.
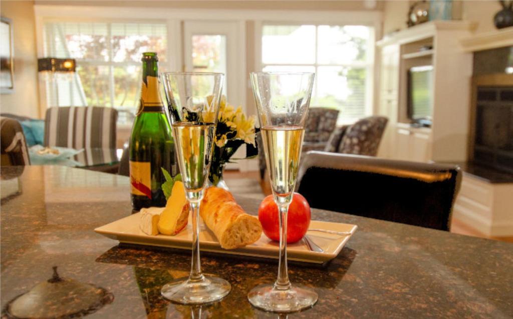
{"label": "long rectangular white plate holding cheese, bread and red fruit", "polygon": [[[101,233],[108,238],[118,240],[120,243],[191,249],[192,221],[190,217],[186,229],[176,236],[146,235],[139,228],[140,219],[141,213],[138,212],[137,214],[133,214],[120,220],[116,220],[110,224],[98,227],[94,229],[94,231]],[[352,235],[354,231],[356,231],[357,226],[342,223],[311,221],[310,228],[344,231],[350,232]],[[300,240],[297,243],[289,244],[287,246],[287,257],[289,260],[307,263],[321,264],[327,262],[337,257],[351,235],[339,236],[324,232],[309,231],[308,237],[310,237],[315,244],[324,249],[324,252],[310,251],[304,241]],[[221,248],[214,233],[206,227],[200,218],[200,249],[202,251],[217,253],[278,259],[279,244],[278,242],[271,241],[264,235],[264,233],[262,233],[262,237],[254,244],[242,248],[227,250]]]}

